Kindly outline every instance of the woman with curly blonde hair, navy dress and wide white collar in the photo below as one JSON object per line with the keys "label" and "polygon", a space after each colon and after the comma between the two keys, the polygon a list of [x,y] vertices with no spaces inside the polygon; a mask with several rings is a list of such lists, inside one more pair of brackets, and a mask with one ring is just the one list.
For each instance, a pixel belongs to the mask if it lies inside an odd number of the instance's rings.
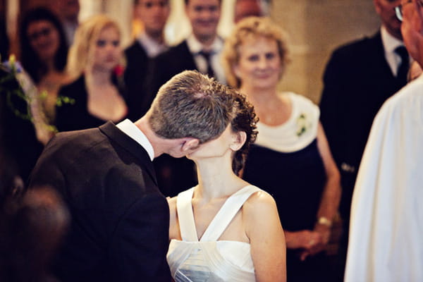
{"label": "woman with curly blonde hair, navy dress and wide white collar", "polygon": [[286,35],[269,18],[241,20],[223,50],[228,83],[247,95],[259,117],[243,178],[276,200],[288,281],[329,281],[324,250],[340,199],[339,172],[319,108],[277,90],[288,61]]}

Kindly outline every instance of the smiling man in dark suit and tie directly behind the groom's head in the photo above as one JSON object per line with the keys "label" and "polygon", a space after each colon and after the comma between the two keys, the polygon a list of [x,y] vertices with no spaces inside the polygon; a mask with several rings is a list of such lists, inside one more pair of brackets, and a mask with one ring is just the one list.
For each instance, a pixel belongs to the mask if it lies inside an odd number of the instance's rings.
{"label": "smiling man in dark suit and tie directly behind the groom's head", "polygon": [[[192,34],[154,59],[147,79],[149,93],[157,93],[164,82],[185,70],[197,70],[225,82],[220,63],[223,39],[217,35],[221,0],[185,0],[185,13]],[[159,187],[166,196],[176,196],[197,183],[194,163],[188,159],[162,156],[154,161],[154,165]]]}

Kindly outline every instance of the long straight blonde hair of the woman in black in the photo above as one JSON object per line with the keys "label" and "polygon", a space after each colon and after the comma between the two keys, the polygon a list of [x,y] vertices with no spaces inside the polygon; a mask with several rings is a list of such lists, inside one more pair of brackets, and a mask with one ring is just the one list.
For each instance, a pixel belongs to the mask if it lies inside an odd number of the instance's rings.
{"label": "long straight blonde hair of the woman in black", "polygon": [[118,24],[105,15],[96,15],[80,24],[75,32],[75,40],[69,49],[66,71],[72,79],[78,78],[87,67],[94,54],[100,33],[106,27],[114,27],[121,36]]}

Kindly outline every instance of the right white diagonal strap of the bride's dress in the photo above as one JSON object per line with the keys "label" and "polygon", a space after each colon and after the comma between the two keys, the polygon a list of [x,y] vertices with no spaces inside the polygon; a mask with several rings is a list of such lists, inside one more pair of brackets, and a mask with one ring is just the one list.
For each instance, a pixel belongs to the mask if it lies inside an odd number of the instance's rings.
{"label": "right white diagonal strap of the bride's dress", "polygon": [[247,201],[254,192],[259,190],[260,189],[256,186],[248,185],[228,197],[221,209],[219,209],[219,212],[217,212],[216,216],[214,216],[214,219],[210,223],[209,227],[207,227],[207,230],[204,231],[200,241],[205,242],[218,240],[223,231],[225,231],[228,227],[229,223],[231,223],[235,214],[237,214],[239,209],[243,207],[245,201]]}

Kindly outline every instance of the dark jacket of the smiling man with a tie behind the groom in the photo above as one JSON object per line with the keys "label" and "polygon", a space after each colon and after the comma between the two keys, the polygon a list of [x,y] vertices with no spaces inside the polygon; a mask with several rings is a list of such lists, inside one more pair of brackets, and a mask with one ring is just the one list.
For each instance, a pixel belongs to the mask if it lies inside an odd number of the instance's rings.
{"label": "dark jacket of the smiling man with a tie behind the groom", "polygon": [[[149,92],[155,96],[161,85],[185,70],[197,70],[194,58],[185,41],[157,56],[152,63]],[[180,158],[175,159],[166,154],[154,160],[159,188],[166,196],[176,196],[197,184],[194,162]]]}

